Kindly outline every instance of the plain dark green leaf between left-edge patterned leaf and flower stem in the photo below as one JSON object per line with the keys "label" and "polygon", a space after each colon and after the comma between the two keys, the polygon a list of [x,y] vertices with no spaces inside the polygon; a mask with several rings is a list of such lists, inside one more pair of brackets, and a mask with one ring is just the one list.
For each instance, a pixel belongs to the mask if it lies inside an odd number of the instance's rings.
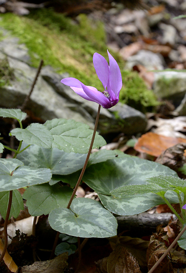
{"label": "plain dark green leaf between left-edge patterned leaf and flower stem", "polygon": [[31,186],[26,189],[23,198],[27,200],[30,215],[47,215],[53,209],[66,208],[73,190],[68,186],[58,184],[50,186],[48,183]]}

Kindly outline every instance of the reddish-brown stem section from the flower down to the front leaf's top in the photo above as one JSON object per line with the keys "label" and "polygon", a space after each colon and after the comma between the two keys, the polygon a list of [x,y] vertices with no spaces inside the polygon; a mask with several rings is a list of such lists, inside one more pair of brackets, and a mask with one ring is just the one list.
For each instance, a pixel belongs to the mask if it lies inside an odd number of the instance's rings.
{"label": "reddish-brown stem section from the flower down to the front leaf's top", "polygon": [[69,209],[69,207],[70,207],[70,205],[72,203],[72,200],[73,200],[73,198],[74,198],[74,196],[75,196],[75,194],[77,192],[77,189],[78,189],[78,187],[79,187],[79,185],[80,185],[80,183],[82,181],[82,178],[84,176],[84,173],[85,173],[85,169],[86,169],[86,166],[87,166],[87,163],[88,163],[88,159],[89,159],[91,151],[92,151],[92,146],[93,146],[93,143],[94,143],[94,138],[96,136],[96,130],[97,130],[97,127],[98,127],[98,121],[99,121],[99,117],[100,117],[100,109],[101,109],[101,105],[99,105],[99,107],[98,107],[98,113],[97,113],[96,122],[95,122],[95,126],[94,126],[94,132],[93,132],[93,135],[92,135],[92,140],[91,140],[91,143],[90,143],[88,154],[86,156],[85,164],[84,164],[84,167],[83,167],[82,172],[80,174],[80,177],[78,179],[78,182],[77,182],[77,184],[76,184],[76,186],[74,188],[74,191],[73,191],[73,193],[72,193],[72,195],[70,197],[67,209]]}

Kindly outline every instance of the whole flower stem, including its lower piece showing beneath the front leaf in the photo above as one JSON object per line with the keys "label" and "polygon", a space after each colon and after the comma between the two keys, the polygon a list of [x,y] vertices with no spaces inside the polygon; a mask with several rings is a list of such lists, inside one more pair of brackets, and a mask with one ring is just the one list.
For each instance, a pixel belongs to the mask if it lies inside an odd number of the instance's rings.
{"label": "whole flower stem, including its lower piece showing beneath the front leaf", "polygon": [[[94,132],[93,132],[93,135],[92,135],[92,140],[91,140],[91,143],[90,143],[90,147],[89,147],[89,150],[88,150],[88,154],[87,154],[87,156],[86,156],[85,164],[84,164],[84,167],[83,167],[82,172],[81,172],[81,174],[80,174],[80,177],[79,177],[79,179],[78,179],[78,181],[77,181],[77,184],[76,184],[76,186],[75,186],[75,188],[74,188],[74,191],[73,191],[73,193],[72,193],[72,195],[71,195],[71,197],[70,197],[70,200],[69,200],[69,202],[68,202],[67,209],[70,208],[70,205],[71,205],[71,203],[72,203],[72,200],[73,200],[73,198],[74,198],[74,196],[75,196],[75,194],[76,194],[76,192],[77,192],[77,189],[78,189],[78,187],[79,187],[79,185],[80,185],[80,183],[81,183],[81,181],[82,181],[82,178],[83,178],[83,176],[84,176],[85,169],[86,169],[86,166],[87,166],[87,163],[88,163],[88,159],[89,159],[90,154],[91,154],[91,151],[92,151],[92,146],[93,146],[93,143],[94,143],[94,138],[95,138],[95,136],[96,136],[96,130],[97,130],[97,127],[98,127],[98,121],[99,121],[99,117],[100,117],[100,110],[101,110],[101,105],[98,106],[98,113],[97,113],[97,117],[96,117],[96,121],[95,121]],[[57,246],[57,241],[58,241],[58,238],[59,238],[59,234],[60,234],[60,233],[57,232],[56,237],[55,237],[55,241],[54,241],[54,244],[53,244],[53,248],[52,248],[52,251],[51,251],[51,257],[50,257],[50,259],[52,259],[53,256],[54,256],[54,252],[55,252],[55,248],[56,248],[56,246]]]}

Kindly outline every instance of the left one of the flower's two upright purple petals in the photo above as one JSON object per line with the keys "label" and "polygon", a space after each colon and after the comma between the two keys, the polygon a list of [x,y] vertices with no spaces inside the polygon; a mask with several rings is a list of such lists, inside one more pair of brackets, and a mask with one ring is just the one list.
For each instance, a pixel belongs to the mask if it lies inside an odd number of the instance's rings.
{"label": "left one of the flower's two upright purple petals", "polygon": [[96,70],[96,74],[98,75],[98,78],[101,80],[102,85],[105,89],[109,79],[108,62],[99,53],[94,53],[93,63],[94,63],[94,68]]}

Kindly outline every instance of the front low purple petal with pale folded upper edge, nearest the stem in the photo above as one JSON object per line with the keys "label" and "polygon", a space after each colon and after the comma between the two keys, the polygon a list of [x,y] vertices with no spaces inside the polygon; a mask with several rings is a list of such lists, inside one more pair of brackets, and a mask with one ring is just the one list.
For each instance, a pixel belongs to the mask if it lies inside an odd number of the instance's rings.
{"label": "front low purple petal with pale folded upper edge, nearest the stem", "polygon": [[109,99],[106,98],[100,91],[98,91],[95,87],[86,86],[82,83],[82,88],[85,94],[91,98],[93,101],[99,103],[102,107],[108,104]]}

